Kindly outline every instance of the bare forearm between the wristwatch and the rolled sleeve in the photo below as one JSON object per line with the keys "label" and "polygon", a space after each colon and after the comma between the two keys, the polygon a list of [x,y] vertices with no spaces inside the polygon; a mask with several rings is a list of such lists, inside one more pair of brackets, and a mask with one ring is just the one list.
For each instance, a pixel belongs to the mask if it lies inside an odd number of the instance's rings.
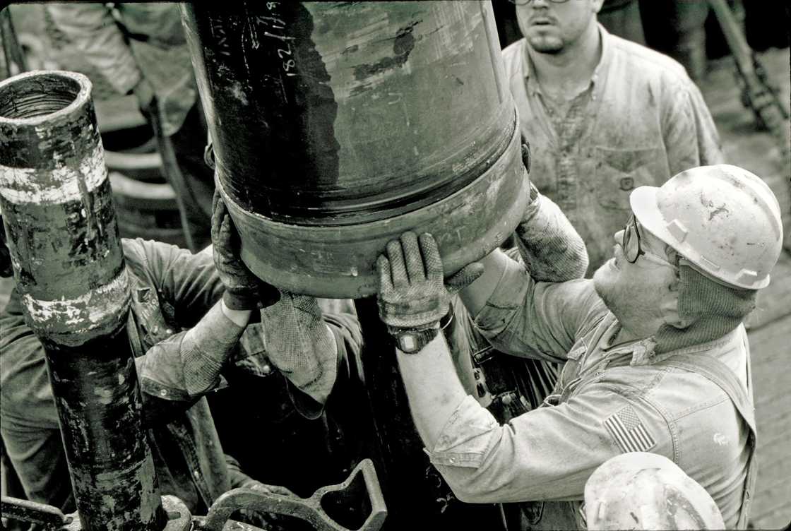
{"label": "bare forearm between the wristwatch and the rolled sleeve", "polygon": [[414,424],[426,448],[433,449],[443,427],[464,400],[464,388],[441,333],[417,354],[396,350]]}

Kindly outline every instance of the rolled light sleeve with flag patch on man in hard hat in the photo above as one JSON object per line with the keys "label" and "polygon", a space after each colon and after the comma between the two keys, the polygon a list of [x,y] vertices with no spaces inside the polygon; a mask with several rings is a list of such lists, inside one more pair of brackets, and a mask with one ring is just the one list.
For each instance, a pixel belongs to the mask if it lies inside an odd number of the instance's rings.
{"label": "rolled light sleeve with flag patch on man in hard hat", "polygon": [[641,423],[649,451],[672,458],[672,437],[647,402],[607,385],[500,425],[471,396],[456,408],[429,452],[454,493],[467,503],[583,499],[592,472],[624,450],[607,428],[614,415]]}

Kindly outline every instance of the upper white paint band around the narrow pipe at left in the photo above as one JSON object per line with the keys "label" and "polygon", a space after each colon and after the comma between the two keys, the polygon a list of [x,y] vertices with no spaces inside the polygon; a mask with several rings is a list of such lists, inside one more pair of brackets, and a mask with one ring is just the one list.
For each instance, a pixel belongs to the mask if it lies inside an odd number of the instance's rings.
{"label": "upper white paint band around the narrow pipe at left", "polygon": [[[41,176],[46,174],[47,178]],[[80,180],[92,192],[107,179],[104,149],[98,144],[78,169],[63,165],[47,170],[0,165],[0,195],[14,204],[60,204],[81,198]]]}

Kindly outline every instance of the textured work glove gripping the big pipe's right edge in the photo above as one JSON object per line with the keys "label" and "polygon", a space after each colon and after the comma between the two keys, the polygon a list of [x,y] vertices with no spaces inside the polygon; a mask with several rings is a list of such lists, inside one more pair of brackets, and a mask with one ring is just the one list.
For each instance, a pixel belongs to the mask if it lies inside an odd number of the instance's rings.
{"label": "textured work glove gripping the big pipe's right edge", "polygon": [[[530,173],[530,144],[522,138],[522,163]],[[588,251],[577,230],[548,197],[530,183],[530,202],[515,230],[517,248],[530,276],[540,282],[581,279]]]}

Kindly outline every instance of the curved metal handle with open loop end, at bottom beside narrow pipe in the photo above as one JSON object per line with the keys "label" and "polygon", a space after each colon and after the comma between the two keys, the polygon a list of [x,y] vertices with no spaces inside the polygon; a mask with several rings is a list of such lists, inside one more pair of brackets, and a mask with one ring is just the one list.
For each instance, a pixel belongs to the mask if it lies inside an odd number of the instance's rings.
{"label": "curved metal handle with open loop end, at bottom beside narrow pipe", "polygon": [[[367,500],[365,506],[369,507],[369,514],[364,522],[354,522],[354,527],[347,527],[331,518],[325,507],[327,499],[334,495],[344,495],[346,491],[353,490],[353,484],[364,482]],[[226,522],[231,514],[237,510],[247,509],[262,513],[282,514],[300,518],[310,523],[317,531],[378,531],[387,517],[387,507],[377,479],[377,472],[373,462],[364,459],[350,473],[342,484],[320,487],[310,498],[298,498],[275,493],[262,493],[245,488],[236,488],[221,495],[209,508],[206,518],[195,519],[195,531],[221,531],[227,529]],[[352,524],[350,524],[352,525]]]}

